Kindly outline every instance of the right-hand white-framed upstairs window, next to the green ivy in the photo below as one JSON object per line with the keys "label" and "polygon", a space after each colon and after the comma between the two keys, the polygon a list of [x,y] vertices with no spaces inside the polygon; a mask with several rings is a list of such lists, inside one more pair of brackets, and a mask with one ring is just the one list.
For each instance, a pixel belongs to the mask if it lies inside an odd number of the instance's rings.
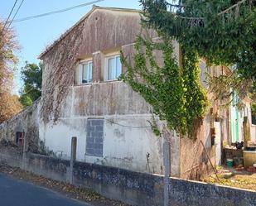
{"label": "right-hand white-framed upstairs window, next to the green ivy", "polygon": [[122,74],[120,55],[111,55],[106,58],[106,80],[117,80]]}

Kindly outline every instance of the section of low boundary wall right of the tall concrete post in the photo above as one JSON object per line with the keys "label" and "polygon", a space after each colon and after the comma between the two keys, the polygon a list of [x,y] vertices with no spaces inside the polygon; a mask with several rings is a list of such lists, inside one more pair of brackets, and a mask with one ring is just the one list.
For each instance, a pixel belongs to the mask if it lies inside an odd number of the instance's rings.
{"label": "section of low boundary wall right of the tall concrete post", "polygon": [[256,192],[171,178],[169,198],[174,206],[254,206]]}

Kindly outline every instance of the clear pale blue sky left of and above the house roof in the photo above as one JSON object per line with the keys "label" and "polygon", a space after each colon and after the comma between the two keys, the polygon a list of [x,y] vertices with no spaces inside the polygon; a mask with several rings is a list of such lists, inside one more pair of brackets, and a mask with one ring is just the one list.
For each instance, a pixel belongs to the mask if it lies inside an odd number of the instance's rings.
{"label": "clear pale blue sky left of and above the house roof", "polygon": [[[91,1],[92,0],[25,0],[16,19],[66,7],[73,7]],[[0,0],[1,19],[7,18],[14,2],[15,0]],[[20,2],[22,2],[22,0],[18,0],[17,5],[19,5]],[[138,0],[104,0],[104,2],[98,2],[96,5],[104,7],[141,8]],[[20,68],[25,65],[25,61],[38,63],[39,60],[37,60],[37,56],[41,51],[69,29],[70,26],[73,26],[75,22],[79,21],[81,17],[89,12],[91,7],[92,5],[80,7],[68,12],[12,24],[17,35],[17,41],[21,47],[21,50],[17,53],[20,62],[15,77],[15,93],[17,93],[22,86],[19,73]]]}

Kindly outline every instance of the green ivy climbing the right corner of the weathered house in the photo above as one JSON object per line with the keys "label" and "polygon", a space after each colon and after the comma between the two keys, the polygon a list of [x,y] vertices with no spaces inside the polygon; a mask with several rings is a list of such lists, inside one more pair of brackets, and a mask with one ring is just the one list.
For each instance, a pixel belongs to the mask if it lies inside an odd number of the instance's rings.
{"label": "green ivy climbing the right corner of the weathered house", "polygon": [[[135,50],[134,65],[122,53],[127,72],[121,79],[142,95],[170,130],[195,137],[195,122],[204,117],[208,104],[205,89],[200,86],[196,52],[182,50],[182,66],[179,66],[171,38],[162,37],[161,42],[153,42],[149,37],[138,36]],[[162,52],[162,66],[156,52]],[[156,127],[153,132],[160,134]]]}

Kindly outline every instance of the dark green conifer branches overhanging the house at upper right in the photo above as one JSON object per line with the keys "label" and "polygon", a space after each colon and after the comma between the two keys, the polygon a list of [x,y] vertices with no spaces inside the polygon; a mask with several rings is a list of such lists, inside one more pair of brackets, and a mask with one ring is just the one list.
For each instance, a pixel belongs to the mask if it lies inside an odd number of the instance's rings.
{"label": "dark green conifer branches overhanging the house at upper right", "polygon": [[[210,79],[211,89],[218,90],[219,97],[229,99],[234,90],[238,91],[241,99],[248,94],[254,96],[255,1],[183,0],[176,1],[176,4],[165,0],[141,2],[147,26],[175,38],[184,50],[193,50],[207,60],[208,65],[232,67],[231,74]],[[221,89],[224,85],[225,91]],[[233,91],[230,92],[231,88]]]}

